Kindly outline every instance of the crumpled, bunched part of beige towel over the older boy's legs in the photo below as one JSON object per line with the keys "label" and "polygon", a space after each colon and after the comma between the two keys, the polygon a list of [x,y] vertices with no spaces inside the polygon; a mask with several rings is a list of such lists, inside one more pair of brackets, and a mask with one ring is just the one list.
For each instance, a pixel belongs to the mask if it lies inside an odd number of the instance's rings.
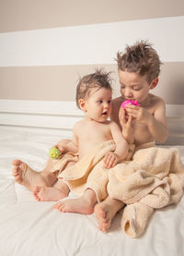
{"label": "crumpled, bunched part of beige towel over the older boy's legs", "polygon": [[132,161],[109,171],[109,196],[127,204],[121,227],[132,238],[144,233],[154,209],[178,203],[183,188],[184,167],[175,148],[136,150]]}

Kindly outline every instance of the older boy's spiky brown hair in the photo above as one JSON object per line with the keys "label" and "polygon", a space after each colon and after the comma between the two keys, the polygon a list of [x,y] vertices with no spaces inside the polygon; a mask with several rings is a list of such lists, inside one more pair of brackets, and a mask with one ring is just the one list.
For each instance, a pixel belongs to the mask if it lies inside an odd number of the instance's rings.
{"label": "older boy's spiky brown hair", "polygon": [[146,75],[148,83],[159,76],[162,64],[152,44],[147,41],[127,45],[125,53],[118,52],[116,60],[119,70]]}

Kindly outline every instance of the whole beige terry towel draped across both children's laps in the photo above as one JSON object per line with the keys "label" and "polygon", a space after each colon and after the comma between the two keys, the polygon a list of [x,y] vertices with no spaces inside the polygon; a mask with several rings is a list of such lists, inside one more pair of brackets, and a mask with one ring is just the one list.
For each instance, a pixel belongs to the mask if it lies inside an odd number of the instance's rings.
{"label": "whole beige terry towel draped across both children's laps", "polygon": [[[106,169],[103,157],[114,149],[113,140],[109,140],[92,149],[80,161],[77,155],[65,154],[60,160],[55,160],[52,171],[60,170],[58,177],[78,194],[90,188],[96,192],[98,202],[108,195],[123,201],[126,207],[121,227],[127,235],[136,238],[144,233],[154,209],[178,203],[181,199],[184,167],[177,149],[147,143],[142,148],[130,147],[128,159],[132,156],[131,160]],[[64,169],[67,161],[78,162]]]}

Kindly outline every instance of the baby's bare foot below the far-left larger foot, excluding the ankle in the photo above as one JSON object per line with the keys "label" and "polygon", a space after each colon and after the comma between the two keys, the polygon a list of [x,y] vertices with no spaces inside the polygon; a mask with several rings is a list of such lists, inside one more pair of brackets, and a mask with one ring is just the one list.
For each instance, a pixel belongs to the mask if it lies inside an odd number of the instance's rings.
{"label": "baby's bare foot below the far-left larger foot, excluding the ankle", "polygon": [[37,201],[58,201],[67,197],[67,194],[53,187],[36,186],[33,195]]}

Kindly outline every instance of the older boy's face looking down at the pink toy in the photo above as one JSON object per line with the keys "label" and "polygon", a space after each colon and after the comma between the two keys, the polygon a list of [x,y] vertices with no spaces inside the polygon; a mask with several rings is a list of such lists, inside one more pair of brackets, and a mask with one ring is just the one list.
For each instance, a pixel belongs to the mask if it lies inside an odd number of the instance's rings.
{"label": "older boy's face looking down at the pink toy", "polygon": [[152,89],[146,77],[140,76],[137,73],[119,70],[119,78],[121,95],[126,100],[136,100],[138,103],[143,103],[150,89]]}

